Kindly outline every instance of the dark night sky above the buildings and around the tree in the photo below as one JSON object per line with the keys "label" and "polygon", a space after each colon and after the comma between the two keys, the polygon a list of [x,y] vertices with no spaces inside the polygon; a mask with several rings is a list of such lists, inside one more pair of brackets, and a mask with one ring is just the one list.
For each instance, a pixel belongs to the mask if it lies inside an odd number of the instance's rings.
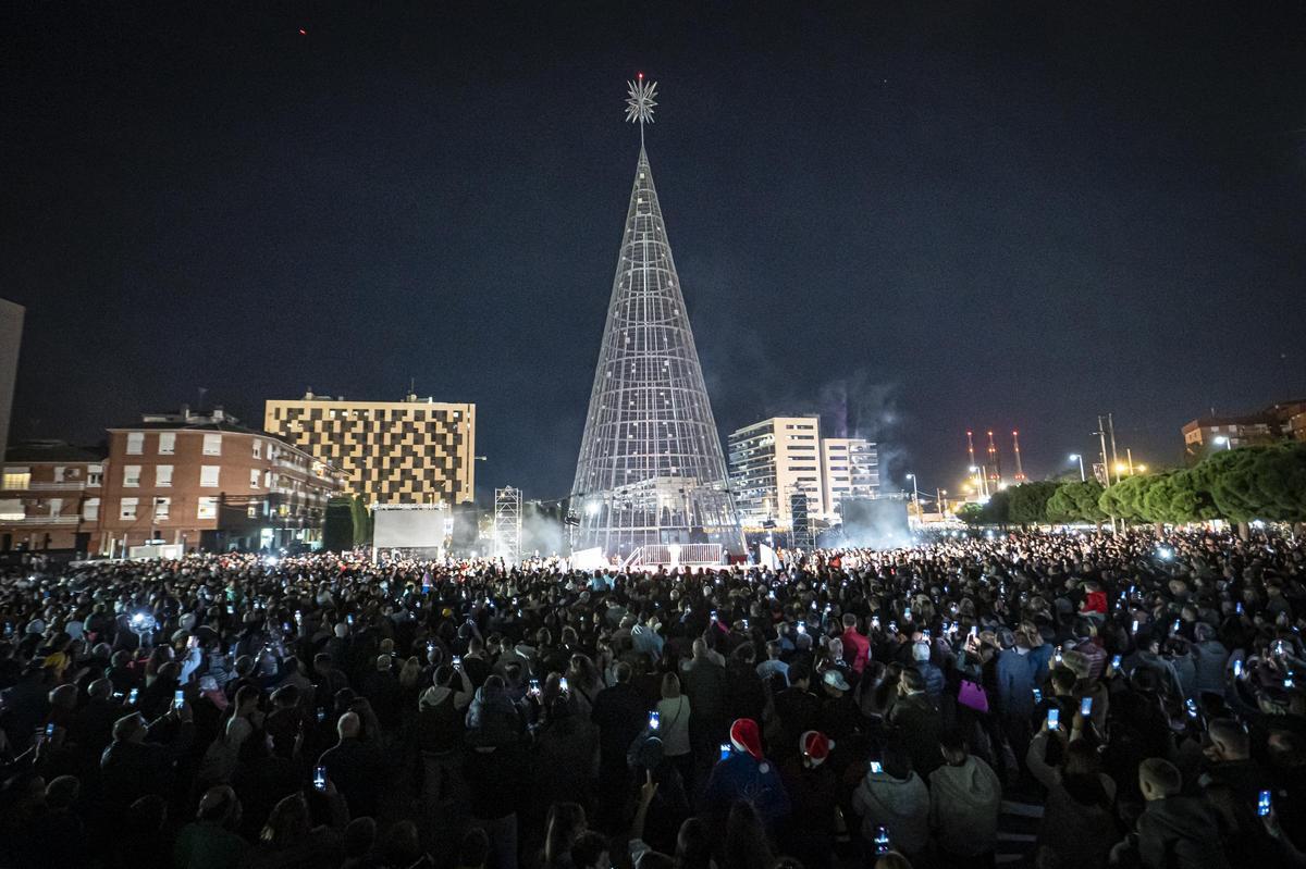
{"label": "dark night sky above the buildings and around the tree", "polygon": [[10,440],[411,376],[564,495],[636,69],[724,432],[846,393],[955,488],[968,427],[1042,475],[1306,394],[1299,3],[513,7],[8,4]]}

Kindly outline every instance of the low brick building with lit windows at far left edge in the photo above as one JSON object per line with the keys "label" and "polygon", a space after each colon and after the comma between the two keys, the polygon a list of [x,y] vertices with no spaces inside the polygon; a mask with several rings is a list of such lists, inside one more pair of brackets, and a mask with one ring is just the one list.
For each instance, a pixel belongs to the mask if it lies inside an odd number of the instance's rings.
{"label": "low brick building with lit windows at far left edge", "polygon": [[0,478],[0,552],[98,552],[101,451],[63,441],[16,444]]}

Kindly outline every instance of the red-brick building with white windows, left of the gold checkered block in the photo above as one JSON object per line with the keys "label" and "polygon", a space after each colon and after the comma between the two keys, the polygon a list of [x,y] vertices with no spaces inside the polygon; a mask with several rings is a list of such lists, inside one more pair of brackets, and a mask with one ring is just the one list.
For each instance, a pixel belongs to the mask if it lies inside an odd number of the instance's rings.
{"label": "red-brick building with white windows, left of the gold checkered block", "polygon": [[291,444],[239,425],[221,408],[146,414],[108,429],[101,551],[148,541],[183,549],[276,549],[321,540],[336,468]]}

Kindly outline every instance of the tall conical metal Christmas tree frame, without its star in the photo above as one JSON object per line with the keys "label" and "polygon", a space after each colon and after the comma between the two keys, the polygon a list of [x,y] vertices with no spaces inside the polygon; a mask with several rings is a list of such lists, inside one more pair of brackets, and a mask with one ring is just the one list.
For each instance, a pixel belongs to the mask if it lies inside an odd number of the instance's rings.
{"label": "tall conical metal Christmas tree frame, without its star", "polygon": [[624,557],[644,545],[718,543],[742,553],[727,481],[641,141],[572,485],[573,548]]}

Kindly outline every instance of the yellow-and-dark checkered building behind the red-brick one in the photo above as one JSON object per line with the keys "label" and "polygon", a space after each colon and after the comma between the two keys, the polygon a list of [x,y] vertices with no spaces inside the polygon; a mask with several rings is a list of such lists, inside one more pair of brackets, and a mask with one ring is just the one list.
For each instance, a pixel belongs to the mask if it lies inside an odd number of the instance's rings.
{"label": "yellow-and-dark checkered building behind the red-brick one", "polygon": [[269,401],[265,431],[345,474],[367,504],[475,500],[477,406],[407,395],[358,402],[306,393]]}

